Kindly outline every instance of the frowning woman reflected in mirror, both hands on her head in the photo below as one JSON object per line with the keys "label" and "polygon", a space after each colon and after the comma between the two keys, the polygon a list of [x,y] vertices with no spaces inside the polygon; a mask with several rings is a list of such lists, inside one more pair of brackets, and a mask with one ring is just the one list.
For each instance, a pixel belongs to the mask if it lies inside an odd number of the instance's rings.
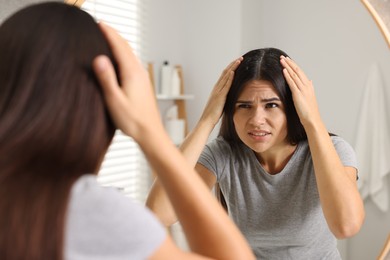
{"label": "frowning woman reflected in mirror, both hands on her head", "polygon": [[[230,64],[181,149],[209,188],[218,184],[259,259],[339,259],[336,239],[362,225],[354,152],[328,134],[312,82],[281,50]],[[158,181],[147,203],[175,221]]]}

